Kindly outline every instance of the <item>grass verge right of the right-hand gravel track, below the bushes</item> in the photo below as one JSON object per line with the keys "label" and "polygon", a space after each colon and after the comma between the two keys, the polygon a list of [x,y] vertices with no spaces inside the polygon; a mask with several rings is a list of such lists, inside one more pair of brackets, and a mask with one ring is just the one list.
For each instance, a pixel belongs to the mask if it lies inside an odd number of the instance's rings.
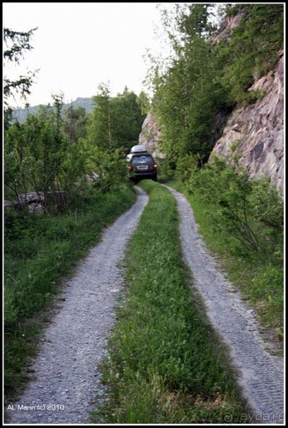
{"label": "grass verge right of the right-hand gravel track, below the bushes", "polygon": [[[243,250],[233,236],[212,227],[211,207],[197,199],[197,195],[191,195],[185,185],[177,182],[170,185],[185,194],[200,226],[199,233],[209,249],[218,255],[220,265],[231,282],[241,290],[243,299],[249,301],[258,313],[268,336],[281,348],[284,331],[283,246],[278,243],[275,252],[273,242],[270,245],[267,241],[265,251]],[[269,231],[266,232],[263,226],[261,228],[261,235],[269,236]]]}

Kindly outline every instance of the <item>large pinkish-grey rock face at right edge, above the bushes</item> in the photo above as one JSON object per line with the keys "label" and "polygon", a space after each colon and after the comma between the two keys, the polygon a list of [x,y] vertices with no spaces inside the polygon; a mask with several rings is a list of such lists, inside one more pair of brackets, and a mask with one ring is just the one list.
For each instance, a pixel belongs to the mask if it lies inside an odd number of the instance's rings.
{"label": "large pinkish-grey rock face at right edge, above the bushes", "polygon": [[[270,177],[278,190],[284,185],[284,59],[251,86],[263,99],[232,112],[212,154],[228,158],[238,154],[251,178]],[[235,149],[236,148],[236,149]],[[210,156],[211,159],[211,156]]]}

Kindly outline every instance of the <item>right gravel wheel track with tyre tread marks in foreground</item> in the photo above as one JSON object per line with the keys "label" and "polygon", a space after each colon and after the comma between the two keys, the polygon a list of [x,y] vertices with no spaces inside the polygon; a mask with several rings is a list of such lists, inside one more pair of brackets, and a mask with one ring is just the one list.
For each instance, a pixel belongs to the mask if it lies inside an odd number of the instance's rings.
{"label": "right gravel wheel track with tyre tread marks in foreground", "polygon": [[[283,359],[265,350],[267,342],[263,342],[253,310],[243,303],[240,293],[217,269],[217,263],[197,233],[198,225],[187,199],[170,187],[168,189],[178,202],[185,261],[205,302],[210,322],[229,345],[232,362],[239,373],[238,383],[253,409],[255,422],[282,424]],[[251,422],[244,419],[243,422]],[[225,422],[229,422],[229,415]]]}

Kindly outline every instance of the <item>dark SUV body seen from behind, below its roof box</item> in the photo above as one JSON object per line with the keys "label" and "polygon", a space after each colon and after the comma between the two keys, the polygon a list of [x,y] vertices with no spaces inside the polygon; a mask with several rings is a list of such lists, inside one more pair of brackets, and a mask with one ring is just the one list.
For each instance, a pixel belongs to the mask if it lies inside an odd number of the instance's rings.
{"label": "dark SUV body seen from behind, below its roof box", "polygon": [[137,153],[127,157],[130,180],[137,183],[143,178],[151,178],[157,181],[157,164],[151,154]]}

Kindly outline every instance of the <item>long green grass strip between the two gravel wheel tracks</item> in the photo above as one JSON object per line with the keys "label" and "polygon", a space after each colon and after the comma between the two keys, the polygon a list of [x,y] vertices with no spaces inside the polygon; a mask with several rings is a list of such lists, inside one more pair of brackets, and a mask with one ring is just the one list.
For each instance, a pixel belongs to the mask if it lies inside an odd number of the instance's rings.
{"label": "long green grass strip between the two gravel wheel tracks", "polygon": [[149,204],[125,258],[125,303],[103,364],[113,424],[237,422],[244,408],[224,346],[200,311],[183,264],[171,193],[142,182]]}

